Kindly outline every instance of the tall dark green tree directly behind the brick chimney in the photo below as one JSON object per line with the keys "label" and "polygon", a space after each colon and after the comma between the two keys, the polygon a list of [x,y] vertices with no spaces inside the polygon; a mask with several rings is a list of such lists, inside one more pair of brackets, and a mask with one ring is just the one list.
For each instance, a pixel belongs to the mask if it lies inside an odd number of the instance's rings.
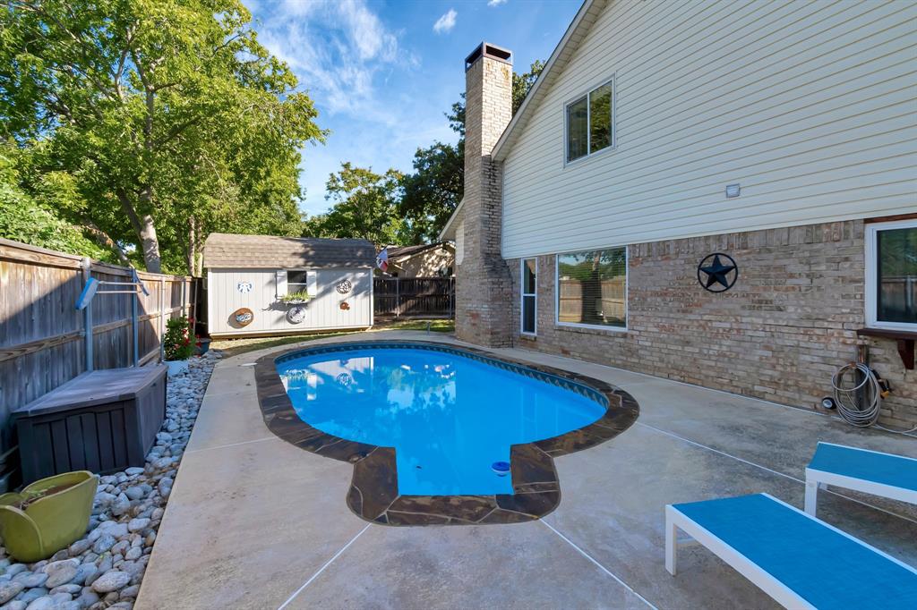
{"label": "tall dark green tree directly behind the brick chimney", "polygon": [[[532,63],[529,71],[513,73],[513,114],[519,110],[545,64]],[[449,126],[458,134],[455,145],[436,142],[417,148],[414,172],[404,176],[403,197],[398,212],[404,219],[404,236],[410,243],[430,242],[461,202],[465,190],[465,93],[446,114]]]}

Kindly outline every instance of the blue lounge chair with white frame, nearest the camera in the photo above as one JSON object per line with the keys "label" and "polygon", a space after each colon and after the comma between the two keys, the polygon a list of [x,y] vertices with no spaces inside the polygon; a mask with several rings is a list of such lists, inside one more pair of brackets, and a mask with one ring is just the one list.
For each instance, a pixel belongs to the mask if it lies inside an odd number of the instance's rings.
{"label": "blue lounge chair with white frame, nearest the camera", "polygon": [[666,569],[678,530],[788,608],[917,608],[917,570],[768,494],[666,507]]}

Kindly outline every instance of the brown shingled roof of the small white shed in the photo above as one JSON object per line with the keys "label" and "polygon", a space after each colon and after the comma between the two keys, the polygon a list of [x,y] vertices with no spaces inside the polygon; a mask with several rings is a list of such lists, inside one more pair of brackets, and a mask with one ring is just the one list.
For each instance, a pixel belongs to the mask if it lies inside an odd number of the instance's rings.
{"label": "brown shingled roof of the small white shed", "polygon": [[295,269],[375,267],[376,248],[365,239],[322,239],[212,233],[204,267]]}

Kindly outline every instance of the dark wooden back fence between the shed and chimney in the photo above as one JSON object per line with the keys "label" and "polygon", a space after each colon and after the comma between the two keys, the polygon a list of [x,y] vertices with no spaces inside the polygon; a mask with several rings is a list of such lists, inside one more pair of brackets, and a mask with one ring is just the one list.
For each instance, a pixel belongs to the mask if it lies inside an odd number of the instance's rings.
{"label": "dark wooden back fence between the shed and chimney", "polygon": [[373,278],[376,318],[452,318],[454,278]]}

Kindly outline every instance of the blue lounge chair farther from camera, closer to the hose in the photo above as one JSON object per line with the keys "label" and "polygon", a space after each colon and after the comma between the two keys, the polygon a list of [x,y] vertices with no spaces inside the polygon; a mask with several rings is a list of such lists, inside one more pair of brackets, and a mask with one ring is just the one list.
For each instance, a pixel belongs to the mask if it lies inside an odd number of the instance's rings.
{"label": "blue lounge chair farther from camera, closer to the hose", "polygon": [[815,516],[818,489],[837,485],[847,489],[917,504],[917,460],[819,442],[805,469],[805,511]]}

